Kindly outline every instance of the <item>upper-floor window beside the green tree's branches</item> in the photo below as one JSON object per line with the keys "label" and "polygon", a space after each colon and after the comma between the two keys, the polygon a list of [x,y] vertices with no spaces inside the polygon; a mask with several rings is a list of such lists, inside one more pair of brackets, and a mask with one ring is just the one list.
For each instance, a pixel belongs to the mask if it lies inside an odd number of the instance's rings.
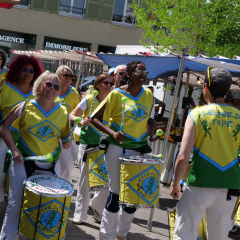
{"label": "upper-floor window beside the green tree's branches", "polygon": [[[134,0],[117,0],[115,1],[113,11],[113,21],[127,24],[135,24],[133,8],[131,7]],[[139,1],[138,1],[139,4]]]}

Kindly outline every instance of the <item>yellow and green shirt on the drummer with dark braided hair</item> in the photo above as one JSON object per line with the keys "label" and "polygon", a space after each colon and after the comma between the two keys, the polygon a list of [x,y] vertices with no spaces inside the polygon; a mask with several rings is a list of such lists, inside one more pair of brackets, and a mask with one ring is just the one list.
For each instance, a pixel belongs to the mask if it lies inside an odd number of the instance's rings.
{"label": "yellow and green shirt on the drummer with dark braided hair", "polygon": [[151,118],[154,117],[153,94],[149,89],[143,87],[139,95],[133,97],[121,88],[117,88],[108,94],[92,116],[106,104],[103,123],[109,125],[115,132],[120,131],[123,109],[122,97],[128,98],[125,106],[124,133],[126,136],[124,143],[120,144],[110,136],[107,136],[107,139],[111,144],[122,148],[134,149],[142,147],[148,143],[148,119],[150,115]]}

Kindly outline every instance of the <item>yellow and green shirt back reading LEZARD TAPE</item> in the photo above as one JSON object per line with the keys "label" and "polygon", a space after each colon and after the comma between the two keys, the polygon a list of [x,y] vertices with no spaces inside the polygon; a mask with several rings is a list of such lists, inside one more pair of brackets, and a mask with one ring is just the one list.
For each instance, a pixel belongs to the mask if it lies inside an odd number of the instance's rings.
{"label": "yellow and green shirt back reading LEZARD TAPE", "polygon": [[194,108],[196,140],[187,184],[240,189],[240,111],[225,104]]}

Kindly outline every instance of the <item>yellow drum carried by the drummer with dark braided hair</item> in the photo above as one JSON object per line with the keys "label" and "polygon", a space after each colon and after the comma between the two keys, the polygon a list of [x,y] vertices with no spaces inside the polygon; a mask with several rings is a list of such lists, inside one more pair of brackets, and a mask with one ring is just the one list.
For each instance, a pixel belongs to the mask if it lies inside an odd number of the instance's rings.
{"label": "yellow drum carried by the drummer with dark braided hair", "polygon": [[132,207],[158,207],[161,160],[121,157],[119,203]]}

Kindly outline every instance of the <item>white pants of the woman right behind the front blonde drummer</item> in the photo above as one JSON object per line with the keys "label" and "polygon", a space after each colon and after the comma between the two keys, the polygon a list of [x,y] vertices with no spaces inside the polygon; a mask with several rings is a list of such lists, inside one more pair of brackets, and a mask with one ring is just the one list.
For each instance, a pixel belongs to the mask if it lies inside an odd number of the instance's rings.
{"label": "white pants of the woman right behind the front blonde drummer", "polygon": [[[60,141],[61,142],[61,141]],[[62,142],[61,142],[62,147]],[[70,183],[72,183],[72,170],[74,168],[73,165],[73,157],[72,157],[72,147],[73,143],[71,144],[71,147],[69,149],[63,149],[59,155],[59,164],[60,164],[60,178],[63,178]]]}

